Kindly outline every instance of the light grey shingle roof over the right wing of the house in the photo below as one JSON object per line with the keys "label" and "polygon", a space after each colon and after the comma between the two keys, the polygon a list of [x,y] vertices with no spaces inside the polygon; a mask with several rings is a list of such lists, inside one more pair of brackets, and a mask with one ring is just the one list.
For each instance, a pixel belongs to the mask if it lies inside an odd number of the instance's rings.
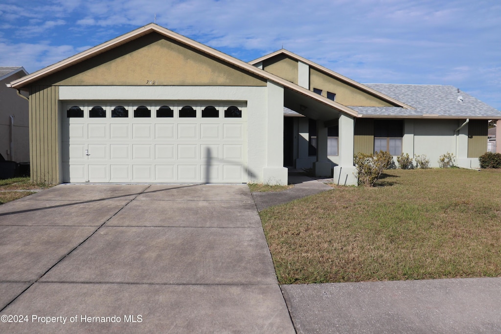
{"label": "light grey shingle roof over the right wing of the house", "polygon": [[[501,112],[453,86],[365,84],[416,110],[399,107],[350,107],[361,114],[389,116],[494,117]],[[462,101],[458,98],[461,97]]]}

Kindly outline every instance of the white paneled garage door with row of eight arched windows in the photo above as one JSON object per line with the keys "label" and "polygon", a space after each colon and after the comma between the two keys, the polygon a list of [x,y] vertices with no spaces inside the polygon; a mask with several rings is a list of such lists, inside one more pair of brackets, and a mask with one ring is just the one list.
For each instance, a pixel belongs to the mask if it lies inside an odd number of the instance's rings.
{"label": "white paneled garage door with row of eight arched windows", "polygon": [[64,182],[247,182],[237,102],[63,104]]}

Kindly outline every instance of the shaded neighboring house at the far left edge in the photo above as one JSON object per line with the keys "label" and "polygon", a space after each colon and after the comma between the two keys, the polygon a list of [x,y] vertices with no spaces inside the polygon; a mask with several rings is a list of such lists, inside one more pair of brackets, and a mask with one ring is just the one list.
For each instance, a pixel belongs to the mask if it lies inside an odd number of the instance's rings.
{"label": "shaded neighboring house at the far left edge", "polygon": [[0,154],[10,161],[30,161],[28,100],[7,88],[26,76],[22,67],[0,67]]}

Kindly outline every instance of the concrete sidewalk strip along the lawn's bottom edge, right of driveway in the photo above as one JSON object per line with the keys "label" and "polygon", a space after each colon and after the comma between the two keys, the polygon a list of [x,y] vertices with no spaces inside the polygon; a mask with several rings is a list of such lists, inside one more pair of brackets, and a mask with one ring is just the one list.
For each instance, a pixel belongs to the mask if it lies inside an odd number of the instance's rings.
{"label": "concrete sidewalk strip along the lawn's bottom edge, right of driveway", "polygon": [[499,333],[501,277],[282,285],[298,333]]}

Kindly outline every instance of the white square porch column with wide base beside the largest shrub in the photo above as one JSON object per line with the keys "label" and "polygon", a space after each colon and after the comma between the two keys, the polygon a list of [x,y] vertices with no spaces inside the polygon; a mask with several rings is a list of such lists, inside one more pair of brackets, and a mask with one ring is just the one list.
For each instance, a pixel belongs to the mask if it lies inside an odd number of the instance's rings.
{"label": "white square porch column with wide base beside the largest shrub", "polygon": [[358,184],[357,169],[353,165],[354,125],[352,116],[341,114],[338,137],[339,164],[334,167],[334,183],[339,185]]}

